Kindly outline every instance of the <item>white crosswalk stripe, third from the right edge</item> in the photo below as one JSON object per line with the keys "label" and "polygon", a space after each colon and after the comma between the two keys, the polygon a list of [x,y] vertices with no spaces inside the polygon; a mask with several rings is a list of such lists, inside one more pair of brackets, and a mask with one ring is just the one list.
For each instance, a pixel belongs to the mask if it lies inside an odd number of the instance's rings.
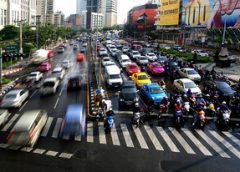
{"label": "white crosswalk stripe, third from the right edge", "polygon": [[213,142],[202,130],[195,130],[221,157],[230,158],[215,142]]}

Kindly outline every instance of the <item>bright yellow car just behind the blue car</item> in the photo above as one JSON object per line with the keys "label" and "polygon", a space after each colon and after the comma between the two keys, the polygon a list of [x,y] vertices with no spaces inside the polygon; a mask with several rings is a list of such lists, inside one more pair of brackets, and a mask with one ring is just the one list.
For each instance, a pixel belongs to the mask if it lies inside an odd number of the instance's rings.
{"label": "bright yellow car just behind the blue car", "polygon": [[145,72],[134,73],[130,78],[136,84],[138,89],[141,88],[143,84],[151,83],[150,77]]}

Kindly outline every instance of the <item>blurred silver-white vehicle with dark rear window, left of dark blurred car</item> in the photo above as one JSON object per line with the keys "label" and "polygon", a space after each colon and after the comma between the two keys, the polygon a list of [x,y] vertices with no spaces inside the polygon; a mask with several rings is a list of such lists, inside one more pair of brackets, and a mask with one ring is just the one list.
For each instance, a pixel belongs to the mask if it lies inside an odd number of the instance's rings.
{"label": "blurred silver-white vehicle with dark rear window, left of dark blurred car", "polygon": [[43,81],[43,84],[39,90],[41,96],[55,94],[59,88],[60,81],[57,77],[49,77]]}

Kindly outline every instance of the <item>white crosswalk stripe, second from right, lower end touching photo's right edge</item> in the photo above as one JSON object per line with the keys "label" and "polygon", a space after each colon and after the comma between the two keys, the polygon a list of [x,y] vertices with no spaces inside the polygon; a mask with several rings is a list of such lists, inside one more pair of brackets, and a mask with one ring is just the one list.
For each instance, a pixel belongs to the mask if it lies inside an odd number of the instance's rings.
{"label": "white crosswalk stripe, second from right, lower end touching photo's right edge", "polygon": [[223,144],[230,152],[232,152],[238,159],[240,159],[240,152],[229,142],[227,142],[222,136],[220,136],[216,131],[209,131],[221,144]]}

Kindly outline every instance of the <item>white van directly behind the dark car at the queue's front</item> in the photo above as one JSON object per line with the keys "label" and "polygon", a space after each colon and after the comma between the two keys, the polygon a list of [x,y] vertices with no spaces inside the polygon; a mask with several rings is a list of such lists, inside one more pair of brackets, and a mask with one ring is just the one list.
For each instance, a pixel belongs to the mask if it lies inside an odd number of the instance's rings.
{"label": "white van directly behind the dark car at the queue's front", "polygon": [[108,88],[116,88],[122,86],[123,80],[121,71],[116,65],[106,66],[105,78]]}

